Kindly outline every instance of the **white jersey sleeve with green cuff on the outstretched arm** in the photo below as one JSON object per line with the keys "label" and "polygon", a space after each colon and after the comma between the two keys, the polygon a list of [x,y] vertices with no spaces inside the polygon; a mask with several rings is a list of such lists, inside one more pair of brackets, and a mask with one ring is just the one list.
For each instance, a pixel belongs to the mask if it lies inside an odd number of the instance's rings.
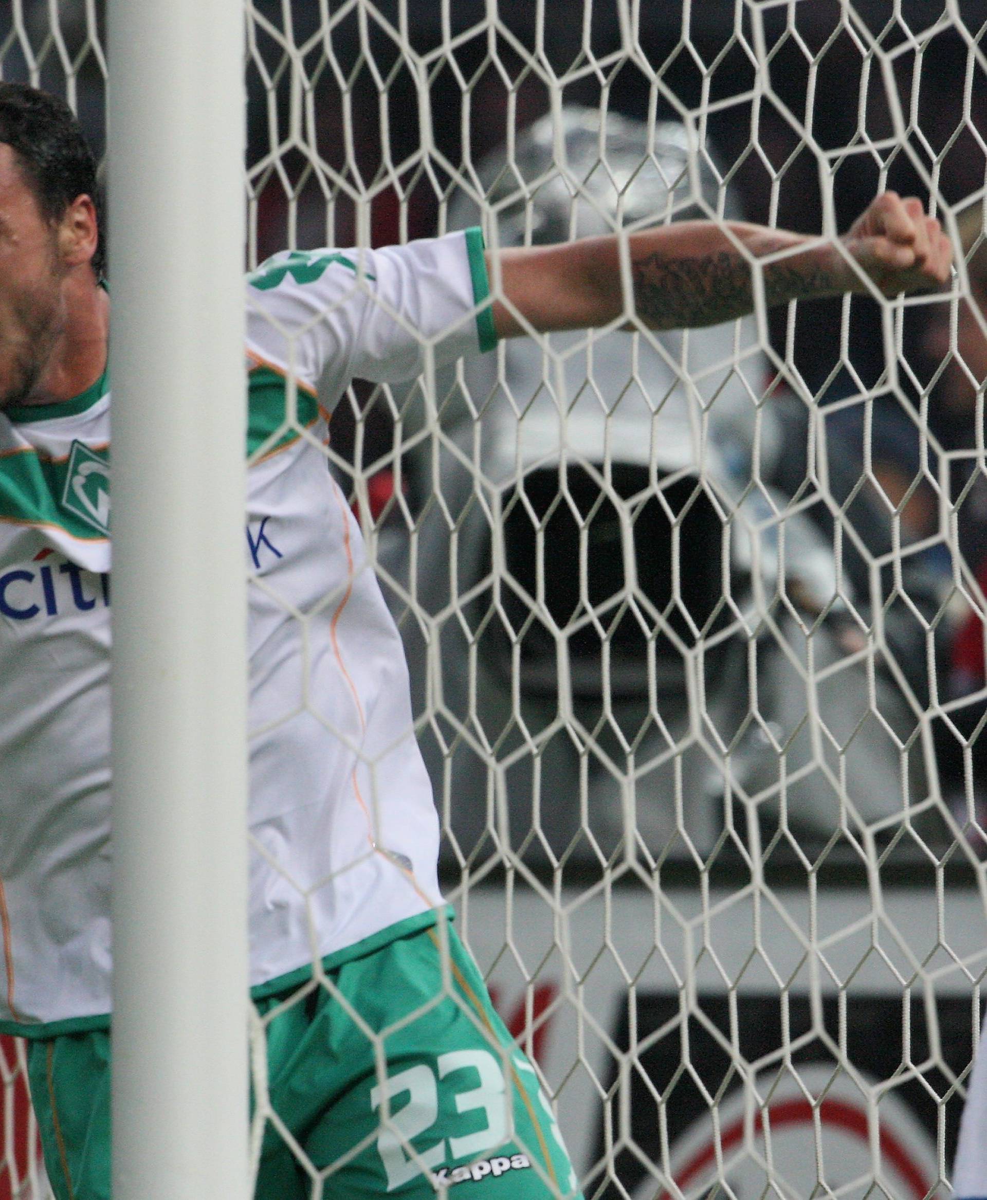
{"label": "white jersey sleeve with green cuff on the outstretched arm", "polygon": [[247,349],[321,395],[398,383],[496,342],[479,229],[384,250],[291,251],[247,280]]}

